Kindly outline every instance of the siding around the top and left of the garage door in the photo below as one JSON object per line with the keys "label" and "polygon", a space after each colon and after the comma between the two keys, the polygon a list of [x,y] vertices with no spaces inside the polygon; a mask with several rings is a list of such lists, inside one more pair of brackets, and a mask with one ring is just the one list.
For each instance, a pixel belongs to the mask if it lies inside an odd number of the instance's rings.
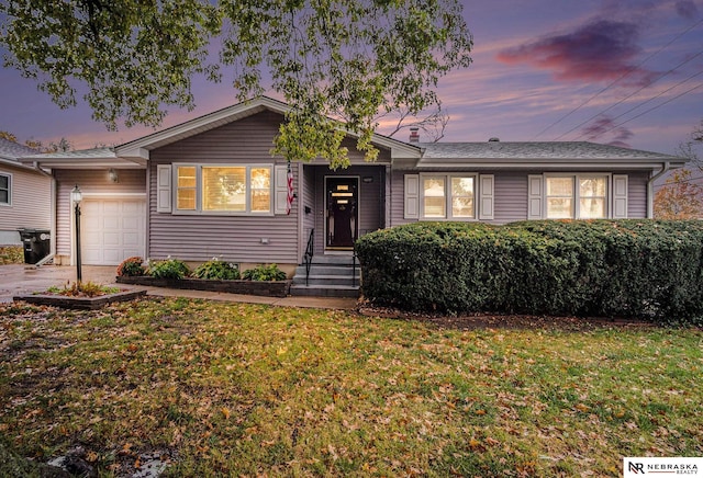
{"label": "siding around the top and left of the garage door", "polygon": [[83,195],[145,194],[145,170],[116,170],[119,181],[113,183],[107,170],[56,170],[56,253],[70,255],[71,223],[74,221],[70,192],[76,185]]}

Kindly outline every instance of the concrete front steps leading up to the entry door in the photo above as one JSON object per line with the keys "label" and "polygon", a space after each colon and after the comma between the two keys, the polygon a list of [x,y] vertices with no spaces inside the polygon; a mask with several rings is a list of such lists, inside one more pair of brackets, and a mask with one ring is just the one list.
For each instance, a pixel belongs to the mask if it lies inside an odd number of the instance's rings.
{"label": "concrete front steps leading up to the entry door", "polygon": [[356,261],[354,275],[352,255],[315,255],[312,258],[310,276],[305,284],[305,264],[295,270],[290,286],[292,296],[312,297],[358,297],[361,281],[361,268]]}

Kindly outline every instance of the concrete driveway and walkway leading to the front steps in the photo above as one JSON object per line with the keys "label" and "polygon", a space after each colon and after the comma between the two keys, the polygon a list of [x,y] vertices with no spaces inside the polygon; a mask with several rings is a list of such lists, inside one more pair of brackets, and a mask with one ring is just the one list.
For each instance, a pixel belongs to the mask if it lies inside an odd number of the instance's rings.
{"label": "concrete driveway and walkway leading to the front steps", "polygon": [[[83,265],[85,282],[114,285],[115,268],[101,265]],[[12,301],[20,294],[46,291],[51,286],[64,286],[76,280],[76,268],[62,265],[43,265],[34,268],[25,264],[0,265],[0,303]],[[282,307],[308,307],[321,309],[355,309],[356,298],[346,297],[259,297],[242,294],[225,294],[205,291],[183,291],[165,287],[141,287],[119,284],[122,288],[146,288],[148,295],[163,297],[192,297],[211,300],[224,300],[247,304],[266,304]]]}

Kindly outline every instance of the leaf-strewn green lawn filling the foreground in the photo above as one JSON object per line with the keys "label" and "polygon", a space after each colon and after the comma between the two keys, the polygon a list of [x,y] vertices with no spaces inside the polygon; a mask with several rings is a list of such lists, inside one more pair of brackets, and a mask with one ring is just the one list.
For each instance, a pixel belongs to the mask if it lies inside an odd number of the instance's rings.
{"label": "leaf-strewn green lawn filling the foreground", "polygon": [[[104,476],[617,476],[703,455],[703,331],[442,329],[148,299],[0,307],[0,437]],[[1,473],[0,473],[1,475]]]}

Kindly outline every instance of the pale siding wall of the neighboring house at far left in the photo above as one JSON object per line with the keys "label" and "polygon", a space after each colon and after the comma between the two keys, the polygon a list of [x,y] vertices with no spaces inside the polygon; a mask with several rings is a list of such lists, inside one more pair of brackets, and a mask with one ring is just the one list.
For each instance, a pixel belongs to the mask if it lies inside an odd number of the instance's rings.
{"label": "pale siding wall of the neighboring house at far left", "polygon": [[0,166],[0,172],[12,177],[11,204],[0,205],[0,231],[14,234],[18,228],[49,229],[51,178],[11,166]]}

